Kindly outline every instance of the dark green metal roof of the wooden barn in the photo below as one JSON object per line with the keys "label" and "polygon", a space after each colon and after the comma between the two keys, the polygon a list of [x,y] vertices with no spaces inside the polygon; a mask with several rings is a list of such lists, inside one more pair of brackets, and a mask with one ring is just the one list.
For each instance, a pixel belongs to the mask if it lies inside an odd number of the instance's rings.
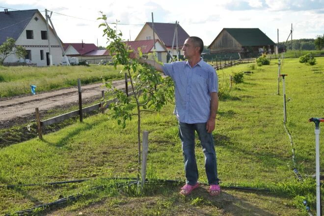
{"label": "dark green metal roof of the wooden barn", "polygon": [[242,46],[276,45],[259,28],[223,28]]}

